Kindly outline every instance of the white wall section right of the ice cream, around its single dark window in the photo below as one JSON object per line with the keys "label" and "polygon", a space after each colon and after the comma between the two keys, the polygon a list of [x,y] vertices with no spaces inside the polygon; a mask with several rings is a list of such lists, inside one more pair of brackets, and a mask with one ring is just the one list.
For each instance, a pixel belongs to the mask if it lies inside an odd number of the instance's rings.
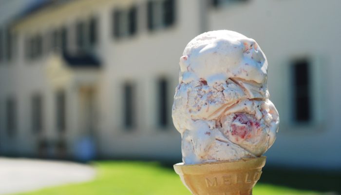
{"label": "white wall section right of the ice cream, around its single dark window", "polygon": [[[341,108],[339,0],[249,0],[211,9],[210,29],[229,29],[255,39],[267,57],[270,99],[281,118],[269,164],[340,168]],[[313,121],[291,121],[290,61],[312,61]]]}

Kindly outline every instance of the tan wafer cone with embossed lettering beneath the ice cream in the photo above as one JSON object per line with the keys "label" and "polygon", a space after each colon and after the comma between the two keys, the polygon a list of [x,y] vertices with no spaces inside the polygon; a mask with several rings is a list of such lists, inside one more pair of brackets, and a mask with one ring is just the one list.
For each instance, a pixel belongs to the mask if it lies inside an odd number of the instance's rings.
{"label": "tan wafer cone with embossed lettering beneath the ice cream", "polygon": [[193,195],[252,195],[265,165],[265,156],[203,164],[174,165]]}

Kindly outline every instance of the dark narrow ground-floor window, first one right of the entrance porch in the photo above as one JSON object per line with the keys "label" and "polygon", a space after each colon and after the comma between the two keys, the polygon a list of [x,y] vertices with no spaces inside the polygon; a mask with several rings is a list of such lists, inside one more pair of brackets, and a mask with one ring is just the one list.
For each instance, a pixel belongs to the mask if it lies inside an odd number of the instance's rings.
{"label": "dark narrow ground-floor window, first one right of the entrance porch", "polygon": [[124,100],[124,126],[129,129],[132,128],[135,120],[135,110],[134,110],[134,86],[132,83],[125,83],[123,86],[123,100]]}

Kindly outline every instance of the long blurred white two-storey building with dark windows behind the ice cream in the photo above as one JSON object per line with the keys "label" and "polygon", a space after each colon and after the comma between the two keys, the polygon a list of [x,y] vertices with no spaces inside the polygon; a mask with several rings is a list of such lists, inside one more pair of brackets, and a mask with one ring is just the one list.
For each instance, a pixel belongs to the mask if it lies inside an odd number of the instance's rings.
{"label": "long blurred white two-storey building with dark windows behind the ice cream", "polygon": [[48,0],[11,23],[11,47],[1,34],[0,154],[89,157],[95,148],[97,157],[180,160],[170,116],[179,58],[196,35],[229,29],[257,40],[268,59],[281,117],[268,164],[340,169],[340,6]]}

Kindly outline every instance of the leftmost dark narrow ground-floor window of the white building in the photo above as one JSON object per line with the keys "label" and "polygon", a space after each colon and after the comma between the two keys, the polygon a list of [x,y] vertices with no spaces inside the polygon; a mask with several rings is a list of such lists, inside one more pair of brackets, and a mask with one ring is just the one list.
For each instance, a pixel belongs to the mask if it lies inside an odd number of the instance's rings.
{"label": "leftmost dark narrow ground-floor window of the white building", "polygon": [[17,130],[17,105],[14,98],[6,100],[6,130],[9,136],[13,136]]}

